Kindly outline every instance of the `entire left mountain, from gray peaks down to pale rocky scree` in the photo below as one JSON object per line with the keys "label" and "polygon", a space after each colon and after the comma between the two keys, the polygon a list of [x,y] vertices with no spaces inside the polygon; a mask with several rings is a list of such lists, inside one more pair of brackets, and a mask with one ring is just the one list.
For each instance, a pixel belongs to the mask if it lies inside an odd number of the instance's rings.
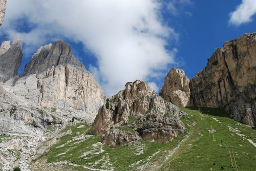
{"label": "entire left mountain, from gray peaks down to pale rocky scree", "polygon": [[60,133],[67,125],[78,120],[92,123],[105,94],[63,40],[40,47],[21,75],[16,75],[22,60],[21,41],[11,46],[10,41],[3,42],[0,58],[0,134],[4,138],[0,167],[9,170],[19,165],[27,170],[34,157],[71,133]]}

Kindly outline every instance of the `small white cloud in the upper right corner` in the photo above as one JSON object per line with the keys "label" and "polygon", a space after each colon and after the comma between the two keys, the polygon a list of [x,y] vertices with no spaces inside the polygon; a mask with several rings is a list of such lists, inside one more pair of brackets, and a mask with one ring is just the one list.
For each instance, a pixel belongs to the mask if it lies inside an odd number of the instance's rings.
{"label": "small white cloud in the upper right corner", "polygon": [[252,16],[256,13],[255,0],[243,0],[237,6],[236,11],[230,13],[229,24],[240,26],[243,23],[252,22]]}

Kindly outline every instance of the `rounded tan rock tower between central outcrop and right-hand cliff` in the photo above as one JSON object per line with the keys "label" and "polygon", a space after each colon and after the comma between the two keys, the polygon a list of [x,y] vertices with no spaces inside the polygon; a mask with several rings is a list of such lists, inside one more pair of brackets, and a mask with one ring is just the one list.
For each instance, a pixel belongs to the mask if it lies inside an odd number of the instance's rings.
{"label": "rounded tan rock tower between central outcrop and right-hand cliff", "polygon": [[184,70],[172,68],[164,78],[159,95],[177,106],[189,106],[189,78],[185,75]]}

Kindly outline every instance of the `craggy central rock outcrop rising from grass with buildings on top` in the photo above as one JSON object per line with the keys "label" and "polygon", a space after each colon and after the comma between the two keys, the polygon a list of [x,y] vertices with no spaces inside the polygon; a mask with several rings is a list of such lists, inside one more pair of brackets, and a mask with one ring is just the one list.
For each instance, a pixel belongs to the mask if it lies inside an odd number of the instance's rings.
{"label": "craggy central rock outcrop rising from grass with buildings on top", "polygon": [[[180,120],[183,115],[176,105],[158,96],[146,82],[136,80],[126,83],[125,90],[113,96],[109,106],[100,108],[92,131],[95,135],[105,134],[102,142],[106,142],[107,137],[120,135],[116,131],[114,134],[112,129],[120,127],[125,130],[128,127],[144,140],[163,143],[184,132],[185,127]],[[111,142],[120,144],[119,141]],[[125,138],[125,142],[128,143],[129,138]]]}

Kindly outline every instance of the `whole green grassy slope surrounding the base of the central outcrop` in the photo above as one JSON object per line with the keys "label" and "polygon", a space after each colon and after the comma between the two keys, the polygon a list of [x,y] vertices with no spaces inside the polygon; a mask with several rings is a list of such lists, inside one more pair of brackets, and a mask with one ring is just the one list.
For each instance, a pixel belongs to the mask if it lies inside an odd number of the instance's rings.
{"label": "whole green grassy slope surrounding the base of the central outcrop", "polygon": [[[182,109],[190,117],[182,118],[188,134],[172,142],[158,144],[141,141],[130,146],[110,148],[99,143],[101,137],[91,135],[91,126],[67,127],[72,134],[62,137],[49,152],[33,161],[33,170],[233,170],[228,145],[233,146],[239,170],[254,170],[255,130],[228,118],[223,110]],[[215,119],[214,119],[215,118]],[[218,121],[217,121],[218,120]],[[191,126],[193,122],[197,124]],[[216,130],[215,140],[208,130]],[[231,127],[228,127],[231,126]],[[244,134],[244,138],[237,135]],[[80,132],[80,135],[76,135]],[[238,131],[237,131],[238,132]],[[44,163],[46,164],[38,164]]]}

